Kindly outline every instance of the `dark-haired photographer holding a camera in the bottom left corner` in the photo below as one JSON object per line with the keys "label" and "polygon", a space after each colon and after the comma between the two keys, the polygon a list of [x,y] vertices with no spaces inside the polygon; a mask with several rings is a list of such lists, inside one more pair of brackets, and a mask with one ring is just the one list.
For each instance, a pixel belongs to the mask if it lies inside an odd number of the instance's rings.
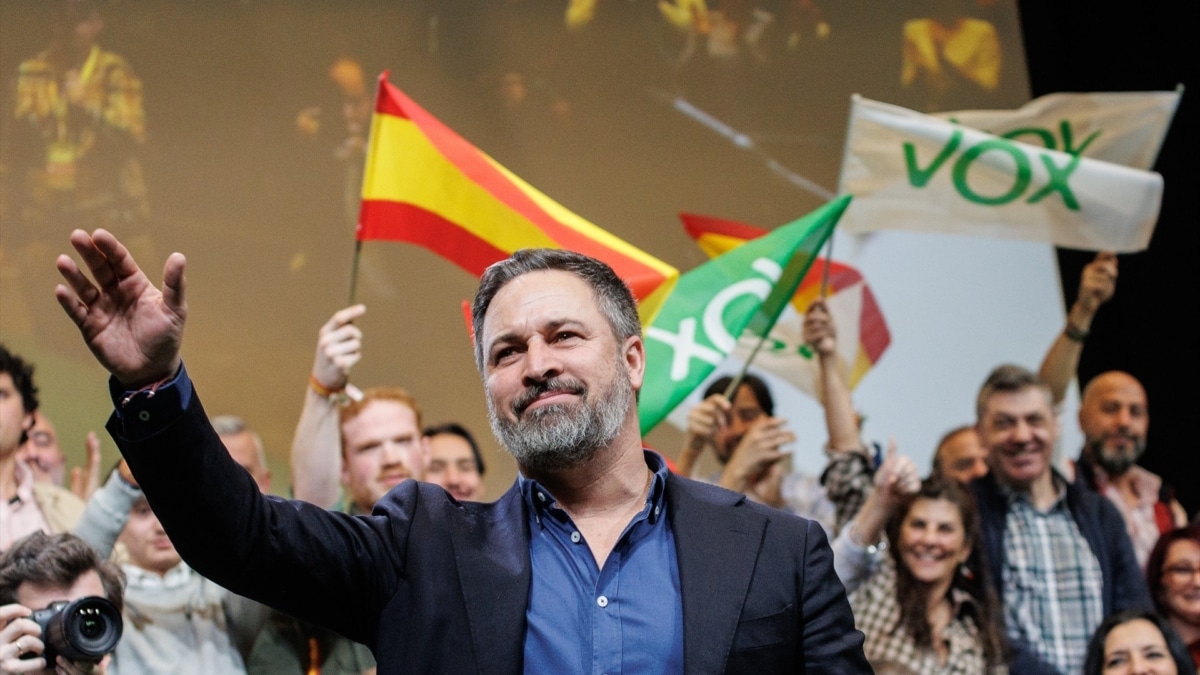
{"label": "dark-haired photographer holding a camera in the bottom left corner", "polygon": [[47,643],[52,652],[54,649],[64,651],[64,646],[47,639],[40,623],[53,626],[54,620],[48,617],[54,611],[40,610],[60,601],[89,596],[107,598],[113,614],[91,620],[83,627],[83,638],[112,637],[112,646],[115,646],[115,638],[120,635],[124,586],[121,572],[100,560],[91,546],[73,534],[35,532],[14,543],[0,556],[0,675],[106,673],[107,655],[98,663],[70,661],[61,655],[47,663],[43,656]]}

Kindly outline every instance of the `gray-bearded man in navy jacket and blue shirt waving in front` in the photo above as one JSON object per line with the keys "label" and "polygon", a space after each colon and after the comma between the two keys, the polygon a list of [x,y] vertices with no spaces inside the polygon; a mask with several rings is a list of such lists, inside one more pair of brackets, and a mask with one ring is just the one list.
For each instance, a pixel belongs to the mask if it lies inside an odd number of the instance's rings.
{"label": "gray-bearded man in navy jacket and blue shirt waving in front", "polygon": [[[389,673],[870,673],[823,531],[671,474],[643,449],[629,288],[565,251],[485,271],[475,360],[520,464],[493,503],[415,480],[370,515],[264,497],[220,447],[179,354],[184,257],[154,287],[76,231],[55,294],[113,375],[109,431],[205,575],[370,646]],[[220,542],[220,545],[205,545]]]}

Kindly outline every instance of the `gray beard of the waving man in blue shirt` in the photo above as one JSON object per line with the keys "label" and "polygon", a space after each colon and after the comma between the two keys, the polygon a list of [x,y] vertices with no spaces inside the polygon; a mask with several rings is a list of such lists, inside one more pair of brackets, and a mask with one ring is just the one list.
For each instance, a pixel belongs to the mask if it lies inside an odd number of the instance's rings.
{"label": "gray beard of the waving man in blue shirt", "polygon": [[497,414],[488,396],[487,418],[492,434],[522,467],[559,471],[580,466],[620,434],[634,401],[634,387],[625,371],[619,369],[607,395],[593,400],[590,394],[584,389],[576,405],[523,411],[516,420]]}

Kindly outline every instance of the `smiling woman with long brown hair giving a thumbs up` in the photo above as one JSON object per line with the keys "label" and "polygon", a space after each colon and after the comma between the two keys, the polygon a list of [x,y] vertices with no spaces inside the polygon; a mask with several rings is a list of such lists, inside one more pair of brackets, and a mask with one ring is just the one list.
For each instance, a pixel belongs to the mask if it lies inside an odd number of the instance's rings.
{"label": "smiling woman with long brown hair giving a thumbs up", "polygon": [[974,500],[947,478],[916,488],[902,459],[884,461],[875,491],[834,542],[866,658],[913,673],[1007,673]]}

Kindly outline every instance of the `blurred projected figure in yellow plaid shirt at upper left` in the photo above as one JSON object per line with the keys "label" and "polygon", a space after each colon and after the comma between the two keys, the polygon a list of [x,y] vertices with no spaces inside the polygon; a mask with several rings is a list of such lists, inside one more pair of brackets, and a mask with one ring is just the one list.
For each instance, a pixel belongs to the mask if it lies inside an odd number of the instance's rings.
{"label": "blurred projected figure in yellow plaid shirt at upper left", "polygon": [[142,80],[103,43],[104,4],[59,0],[49,32],[49,44],[18,66],[6,115],[6,234],[142,223]]}

